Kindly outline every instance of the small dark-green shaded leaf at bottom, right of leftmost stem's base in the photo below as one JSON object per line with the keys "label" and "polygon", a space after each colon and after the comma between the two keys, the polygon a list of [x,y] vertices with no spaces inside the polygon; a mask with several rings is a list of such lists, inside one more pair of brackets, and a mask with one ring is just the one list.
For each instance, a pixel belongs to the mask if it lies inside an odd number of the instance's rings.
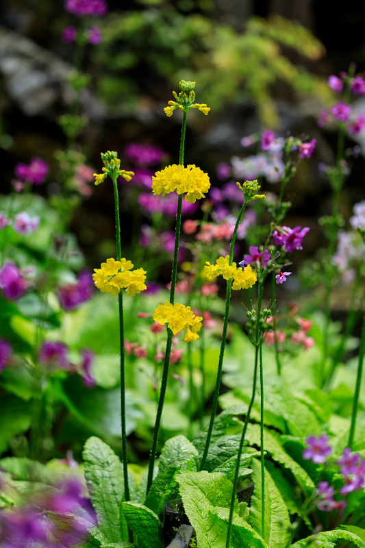
{"label": "small dark-green shaded leaf at bottom, right of leftmost stem's base", "polygon": [[145,547],[162,547],[162,523],[152,510],[130,501],[122,502],[122,509],[132,532]]}

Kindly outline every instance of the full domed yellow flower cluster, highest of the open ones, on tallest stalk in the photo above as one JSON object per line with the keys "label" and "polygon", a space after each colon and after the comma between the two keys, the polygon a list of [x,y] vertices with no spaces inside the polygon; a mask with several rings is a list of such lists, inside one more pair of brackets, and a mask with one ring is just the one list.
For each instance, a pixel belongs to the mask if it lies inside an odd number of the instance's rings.
{"label": "full domed yellow flower cluster, highest of the open ones, on tallest stalk", "polygon": [[205,198],[204,192],[210,188],[210,180],[206,173],[199,167],[167,166],[152,177],[152,190],[154,195],[162,196],[177,191],[177,194],[186,193],[185,199],[194,203],[197,199]]}

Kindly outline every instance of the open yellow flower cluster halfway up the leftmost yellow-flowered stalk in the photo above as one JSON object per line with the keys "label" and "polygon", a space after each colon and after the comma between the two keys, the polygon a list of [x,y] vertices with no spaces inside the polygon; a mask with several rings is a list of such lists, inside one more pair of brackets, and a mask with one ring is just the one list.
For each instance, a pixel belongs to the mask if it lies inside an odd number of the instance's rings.
{"label": "open yellow flower cluster halfway up the leftmost yellow-flowered stalk", "polygon": [[146,271],[136,269],[132,271],[133,264],[131,261],[121,259],[107,259],[101,263],[101,269],[94,269],[95,274],[92,275],[94,283],[103,293],[110,295],[118,295],[118,292],[125,288],[127,295],[133,297],[136,293],[140,293],[147,286],[144,284],[146,279]]}

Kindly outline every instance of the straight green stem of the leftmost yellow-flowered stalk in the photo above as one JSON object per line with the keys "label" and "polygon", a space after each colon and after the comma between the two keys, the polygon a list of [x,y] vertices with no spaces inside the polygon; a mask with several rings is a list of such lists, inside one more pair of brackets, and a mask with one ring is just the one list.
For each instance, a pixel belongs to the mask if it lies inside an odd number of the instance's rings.
{"label": "straight green stem of the leftmost yellow-flowered stalk", "polygon": [[[116,259],[118,261],[122,258],[121,251],[121,222],[119,219],[119,197],[118,197],[118,183],[117,177],[113,177],[114,188],[114,203],[115,203],[115,232],[116,232]],[[128,482],[128,468],[127,468],[127,432],[125,429],[125,349],[124,349],[124,320],[123,320],[123,290],[118,294],[119,303],[119,338],[121,344],[121,427],[122,427],[122,460],[123,460],[123,475],[124,475],[124,493],[125,500],[129,501],[129,482]],[[131,532],[129,531],[129,537]],[[129,539],[130,540],[130,539]],[[132,539],[133,540],[133,539]]]}

